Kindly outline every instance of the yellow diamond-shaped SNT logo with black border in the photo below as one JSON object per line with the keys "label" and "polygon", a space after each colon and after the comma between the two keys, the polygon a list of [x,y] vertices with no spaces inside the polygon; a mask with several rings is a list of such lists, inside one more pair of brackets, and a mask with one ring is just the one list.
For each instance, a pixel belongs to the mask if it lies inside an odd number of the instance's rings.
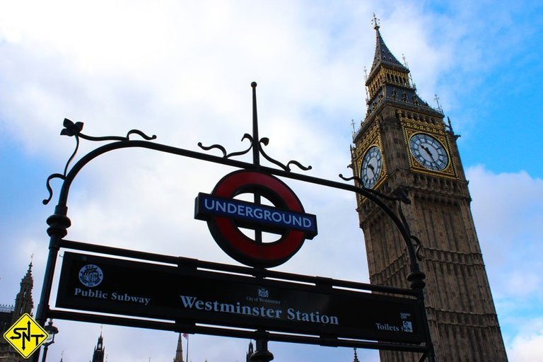
{"label": "yellow diamond-shaped SNT logo with black border", "polygon": [[4,333],[4,339],[24,358],[30,357],[40,348],[47,337],[49,334],[28,313],[21,315]]}

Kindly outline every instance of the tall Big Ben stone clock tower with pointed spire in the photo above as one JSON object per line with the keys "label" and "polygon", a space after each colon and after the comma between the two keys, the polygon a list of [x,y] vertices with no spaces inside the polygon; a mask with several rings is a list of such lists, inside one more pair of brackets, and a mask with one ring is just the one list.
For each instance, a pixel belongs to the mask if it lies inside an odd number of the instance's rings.
{"label": "tall Big Ben stone clock tower with pointed spire", "polygon": [[[354,135],[352,166],[363,187],[407,191],[403,206],[421,240],[426,313],[436,361],[507,361],[469,204],[457,136],[443,113],[416,94],[407,66],[385,45],[373,18],[375,58],[366,79],[368,112]],[[407,255],[397,230],[373,203],[358,198],[372,284],[407,287]],[[380,352],[382,361],[419,356]]]}

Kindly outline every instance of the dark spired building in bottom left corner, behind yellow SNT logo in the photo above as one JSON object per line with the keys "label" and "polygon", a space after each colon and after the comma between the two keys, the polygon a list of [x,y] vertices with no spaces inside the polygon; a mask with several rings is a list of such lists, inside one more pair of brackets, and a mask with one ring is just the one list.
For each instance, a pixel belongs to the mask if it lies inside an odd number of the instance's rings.
{"label": "dark spired building in bottom left corner, behind yellow SNT logo", "polygon": [[[21,315],[25,313],[32,315],[32,309],[34,308],[34,301],[32,299],[33,286],[32,262],[30,262],[25,276],[21,279],[21,288],[15,298],[15,304],[0,305],[0,335],[3,335],[13,323],[17,322]],[[13,349],[13,346],[8,344],[4,338],[0,338],[0,359],[6,362],[25,361],[25,358],[18,354]]]}

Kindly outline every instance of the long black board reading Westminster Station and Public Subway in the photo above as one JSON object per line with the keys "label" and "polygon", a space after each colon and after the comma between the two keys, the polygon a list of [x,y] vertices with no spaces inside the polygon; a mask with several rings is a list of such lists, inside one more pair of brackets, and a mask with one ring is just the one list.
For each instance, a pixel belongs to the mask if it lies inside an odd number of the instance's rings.
{"label": "long black board reading Westminster Station and Public Subway", "polygon": [[[249,268],[247,268],[250,270]],[[57,307],[419,344],[419,302],[315,284],[65,252]]]}

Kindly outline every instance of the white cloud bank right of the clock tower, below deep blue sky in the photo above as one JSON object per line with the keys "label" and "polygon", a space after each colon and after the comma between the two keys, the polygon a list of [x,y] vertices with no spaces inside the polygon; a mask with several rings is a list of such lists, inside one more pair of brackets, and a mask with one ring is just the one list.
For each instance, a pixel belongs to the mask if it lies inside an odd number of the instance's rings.
{"label": "white cloud bank right of the clock tower, below deep blue sky", "polygon": [[510,361],[543,361],[543,180],[467,169],[472,213]]}

